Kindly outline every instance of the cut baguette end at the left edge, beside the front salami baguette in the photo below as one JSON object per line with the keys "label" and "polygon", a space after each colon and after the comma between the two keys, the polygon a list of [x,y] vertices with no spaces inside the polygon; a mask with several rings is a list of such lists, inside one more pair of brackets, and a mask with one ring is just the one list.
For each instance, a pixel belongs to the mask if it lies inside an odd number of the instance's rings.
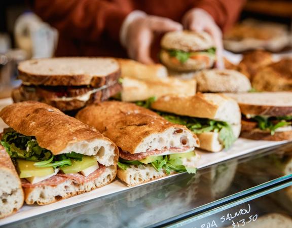
{"label": "cut baguette end at the left edge, beside the front salami baguette", "polygon": [[0,218],[18,211],[24,202],[21,182],[3,146],[0,146]]}

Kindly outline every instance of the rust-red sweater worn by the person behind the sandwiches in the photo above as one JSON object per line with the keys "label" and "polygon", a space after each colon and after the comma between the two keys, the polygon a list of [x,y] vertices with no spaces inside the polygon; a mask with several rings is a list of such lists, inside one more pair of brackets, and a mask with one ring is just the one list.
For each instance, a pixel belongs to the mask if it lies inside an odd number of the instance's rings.
{"label": "rust-red sweater worn by the person behind the sandwiches", "polygon": [[119,41],[121,25],[134,10],[181,22],[192,8],[207,11],[227,30],[245,0],[34,0],[33,10],[57,28],[56,56],[127,57]]}

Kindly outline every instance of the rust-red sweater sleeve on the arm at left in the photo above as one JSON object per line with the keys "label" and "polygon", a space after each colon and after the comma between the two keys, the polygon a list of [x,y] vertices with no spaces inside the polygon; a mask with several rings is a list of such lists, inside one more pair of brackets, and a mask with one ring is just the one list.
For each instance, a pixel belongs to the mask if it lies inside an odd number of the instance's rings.
{"label": "rust-red sweater sleeve on the arm at left", "polygon": [[119,41],[122,23],[130,13],[106,0],[35,0],[34,12],[59,32],[84,41],[107,33]]}

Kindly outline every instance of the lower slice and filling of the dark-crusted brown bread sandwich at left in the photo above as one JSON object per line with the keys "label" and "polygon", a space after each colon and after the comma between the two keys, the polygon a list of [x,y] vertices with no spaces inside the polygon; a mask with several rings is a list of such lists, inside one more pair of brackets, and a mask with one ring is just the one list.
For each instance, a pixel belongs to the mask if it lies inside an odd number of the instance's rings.
{"label": "lower slice and filling of the dark-crusted brown bread sandwich at left", "polygon": [[98,103],[107,100],[109,97],[119,93],[122,86],[119,83],[102,86],[100,88],[91,88],[88,92],[69,97],[56,97],[56,92],[49,92],[45,88],[33,88],[30,86],[20,86],[12,91],[14,102],[34,100],[52,105],[62,111],[71,111],[80,109],[88,104]]}

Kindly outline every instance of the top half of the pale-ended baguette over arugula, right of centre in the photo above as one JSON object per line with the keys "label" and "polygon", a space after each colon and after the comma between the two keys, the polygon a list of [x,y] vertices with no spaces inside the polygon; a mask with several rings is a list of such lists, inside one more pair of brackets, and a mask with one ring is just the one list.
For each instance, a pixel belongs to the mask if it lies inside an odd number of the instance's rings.
{"label": "top half of the pale-ended baguette over arugula, right of centre", "polygon": [[157,99],[151,107],[180,116],[207,118],[235,125],[240,124],[241,120],[238,104],[224,94],[197,93],[186,97],[167,95]]}

